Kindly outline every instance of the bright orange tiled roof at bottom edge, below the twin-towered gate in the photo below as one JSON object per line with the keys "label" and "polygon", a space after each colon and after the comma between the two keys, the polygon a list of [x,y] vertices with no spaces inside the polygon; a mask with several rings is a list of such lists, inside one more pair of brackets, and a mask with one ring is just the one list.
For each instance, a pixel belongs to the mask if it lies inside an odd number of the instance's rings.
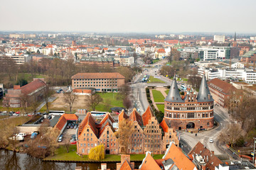
{"label": "bright orange tiled roof at bottom edge, below the twin-towered gate", "polygon": [[167,149],[164,159],[172,159],[178,169],[193,170],[196,167],[193,162],[191,162],[191,160],[188,159],[185,154],[183,154],[181,149],[176,147],[174,142],[172,142],[169,149]]}

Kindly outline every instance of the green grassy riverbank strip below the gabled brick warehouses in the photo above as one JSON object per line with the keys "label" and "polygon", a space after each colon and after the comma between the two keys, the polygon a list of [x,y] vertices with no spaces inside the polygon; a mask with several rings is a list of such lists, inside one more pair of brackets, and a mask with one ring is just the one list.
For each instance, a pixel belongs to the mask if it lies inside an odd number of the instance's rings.
{"label": "green grassy riverbank strip below the gabled brick warehouses", "polygon": [[[121,155],[116,154],[106,154],[105,159],[100,161],[93,161],[88,158],[88,155],[83,155],[80,157],[77,152],[76,145],[71,145],[69,152],[65,147],[59,147],[56,149],[55,155],[46,157],[43,159],[45,162],[121,162]],[[161,159],[164,154],[155,154],[154,159]],[[142,162],[145,154],[131,154],[131,162]]]}

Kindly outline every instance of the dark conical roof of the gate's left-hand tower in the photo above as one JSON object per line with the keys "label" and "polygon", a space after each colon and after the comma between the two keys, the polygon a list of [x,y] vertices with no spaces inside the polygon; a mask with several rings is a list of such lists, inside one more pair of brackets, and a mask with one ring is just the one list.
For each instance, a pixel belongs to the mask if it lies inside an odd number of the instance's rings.
{"label": "dark conical roof of the gate's left-hand tower", "polygon": [[178,102],[178,103],[183,103],[184,102],[181,99],[181,95],[178,92],[178,86],[177,86],[176,76],[175,75],[174,75],[174,80],[171,83],[169,94],[166,96],[164,101]]}

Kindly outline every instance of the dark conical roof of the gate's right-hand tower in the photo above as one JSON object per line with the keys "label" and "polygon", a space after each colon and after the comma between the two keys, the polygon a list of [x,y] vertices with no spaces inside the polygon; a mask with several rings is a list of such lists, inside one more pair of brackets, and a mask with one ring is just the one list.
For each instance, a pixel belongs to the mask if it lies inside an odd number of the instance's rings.
{"label": "dark conical roof of the gate's right-hand tower", "polygon": [[210,95],[210,91],[206,82],[206,77],[204,75],[196,99],[198,102],[213,101],[213,96]]}

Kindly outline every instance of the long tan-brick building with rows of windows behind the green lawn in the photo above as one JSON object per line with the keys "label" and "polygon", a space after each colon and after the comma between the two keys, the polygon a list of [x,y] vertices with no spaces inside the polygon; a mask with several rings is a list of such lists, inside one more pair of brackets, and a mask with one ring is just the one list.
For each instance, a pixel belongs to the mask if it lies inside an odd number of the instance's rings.
{"label": "long tan-brick building with rows of windows behind the green lawn", "polygon": [[95,88],[97,92],[118,91],[125,77],[118,72],[78,73],[72,79],[73,89]]}

